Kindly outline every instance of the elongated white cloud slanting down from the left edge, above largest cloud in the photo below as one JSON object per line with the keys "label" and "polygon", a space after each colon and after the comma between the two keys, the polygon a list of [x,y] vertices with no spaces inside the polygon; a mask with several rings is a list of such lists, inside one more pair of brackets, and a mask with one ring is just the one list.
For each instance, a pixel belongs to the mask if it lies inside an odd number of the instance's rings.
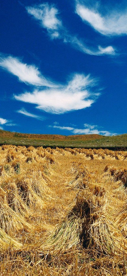
{"label": "elongated white cloud slanting down from the left edge, above largest cloud", "polygon": [[20,81],[26,84],[57,87],[55,83],[42,76],[35,65],[22,63],[16,57],[0,55],[0,67],[17,76]]}

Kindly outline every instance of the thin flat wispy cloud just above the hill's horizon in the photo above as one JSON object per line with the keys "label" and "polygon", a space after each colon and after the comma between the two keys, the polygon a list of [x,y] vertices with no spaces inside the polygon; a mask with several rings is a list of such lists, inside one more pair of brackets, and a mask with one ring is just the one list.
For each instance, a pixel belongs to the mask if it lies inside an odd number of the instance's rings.
{"label": "thin flat wispy cloud just above the hill's horizon", "polygon": [[109,131],[102,131],[98,130],[98,126],[96,125],[90,125],[90,124],[84,124],[84,128],[71,128],[69,126],[59,126],[59,125],[49,125],[48,127],[50,128],[57,128],[60,130],[68,130],[71,131],[73,134],[99,134],[99,135],[104,135],[104,136],[113,136],[117,135],[117,133],[112,133]]}

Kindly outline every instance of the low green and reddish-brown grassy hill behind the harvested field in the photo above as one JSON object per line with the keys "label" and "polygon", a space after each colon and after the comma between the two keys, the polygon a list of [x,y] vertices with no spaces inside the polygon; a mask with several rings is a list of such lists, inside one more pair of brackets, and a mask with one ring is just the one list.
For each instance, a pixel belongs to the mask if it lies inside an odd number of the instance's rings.
{"label": "low green and reddish-brown grassy hill behind the harvested field", "polygon": [[127,134],[117,136],[102,136],[98,134],[63,136],[53,134],[25,134],[0,130],[0,144],[45,147],[124,148],[127,147]]}

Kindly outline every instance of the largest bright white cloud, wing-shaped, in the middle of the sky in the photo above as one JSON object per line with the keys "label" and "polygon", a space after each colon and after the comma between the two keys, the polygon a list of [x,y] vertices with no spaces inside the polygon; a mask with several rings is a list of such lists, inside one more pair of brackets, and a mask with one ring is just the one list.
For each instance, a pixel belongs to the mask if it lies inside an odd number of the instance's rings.
{"label": "largest bright white cloud, wing-shaped, in the middle of the sky", "polygon": [[62,114],[72,110],[90,107],[99,93],[93,91],[97,85],[96,79],[90,75],[75,74],[67,85],[57,89],[34,90],[33,93],[25,92],[14,95],[15,99],[34,103],[37,108],[49,113]]}

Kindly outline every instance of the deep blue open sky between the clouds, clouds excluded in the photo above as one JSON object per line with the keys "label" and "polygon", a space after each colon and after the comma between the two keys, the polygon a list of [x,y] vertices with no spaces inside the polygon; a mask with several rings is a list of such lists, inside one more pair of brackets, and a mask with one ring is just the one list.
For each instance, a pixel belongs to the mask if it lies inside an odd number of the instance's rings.
{"label": "deep blue open sky between the clouds, clouds excluded", "polygon": [[[46,1],[45,1],[46,2]],[[71,3],[70,3],[71,2]],[[102,4],[111,1],[101,1]],[[119,1],[114,1],[118,2]],[[22,3],[22,5],[21,5]],[[98,129],[112,133],[126,133],[127,120],[127,36],[107,37],[96,32],[91,26],[82,22],[75,14],[74,2],[69,0],[48,1],[60,10],[60,18],[71,35],[77,35],[87,41],[88,45],[96,44],[106,47],[114,46],[118,54],[115,56],[94,56],[64,44],[62,39],[51,40],[47,31],[33,20],[25,10],[25,6],[41,4],[43,1],[23,0],[0,1],[0,53],[22,59],[22,62],[34,64],[48,78],[59,83],[66,83],[69,75],[74,72],[91,74],[98,78],[101,95],[91,107],[71,111],[64,114],[50,114],[36,109],[36,105],[24,103],[13,98],[13,94],[33,91],[7,71],[0,69],[0,117],[12,120],[15,126],[2,125],[9,131],[23,133],[63,134],[70,135],[67,130],[50,128],[53,122],[60,126],[71,126],[82,129],[83,124],[98,125]],[[24,116],[16,111],[25,108],[38,116],[45,116],[44,121]]]}

